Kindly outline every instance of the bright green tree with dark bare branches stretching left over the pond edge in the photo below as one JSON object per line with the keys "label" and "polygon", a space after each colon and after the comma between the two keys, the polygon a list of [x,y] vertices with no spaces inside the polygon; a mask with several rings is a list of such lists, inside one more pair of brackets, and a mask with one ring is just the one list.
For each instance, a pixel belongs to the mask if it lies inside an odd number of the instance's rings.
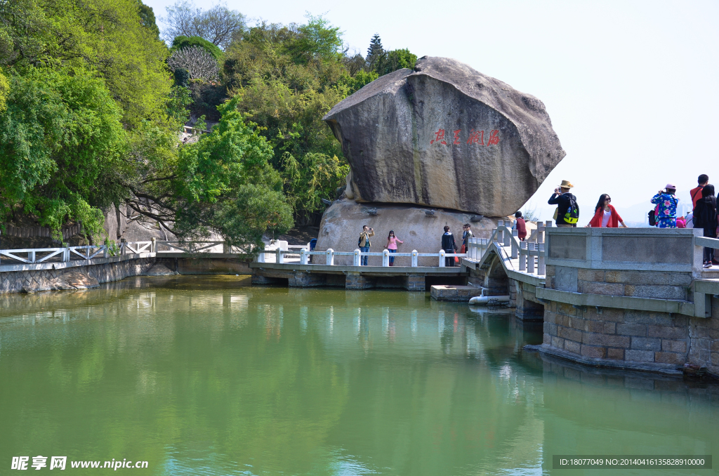
{"label": "bright green tree with dark bare branches stretching left over the pond edge", "polygon": [[[175,160],[157,157],[155,140],[135,145],[149,165],[130,185],[133,195],[127,203],[180,239],[215,231],[232,246],[261,248],[262,234],[280,234],[292,226],[292,211],[282,178],[269,162],[271,145],[255,124],[244,121],[237,99],[219,109],[221,119],[211,134],[181,147]],[[147,175],[156,178],[142,178]]]}

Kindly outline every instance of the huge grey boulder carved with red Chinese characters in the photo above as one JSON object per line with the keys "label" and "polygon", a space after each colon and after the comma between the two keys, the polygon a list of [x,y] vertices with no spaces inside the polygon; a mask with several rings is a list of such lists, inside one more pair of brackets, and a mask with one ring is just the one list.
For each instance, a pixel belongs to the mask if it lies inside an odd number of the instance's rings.
{"label": "huge grey boulder carved with red Chinese characters", "polygon": [[539,99],[449,58],[384,75],[324,120],[359,202],[506,216],[565,155]]}

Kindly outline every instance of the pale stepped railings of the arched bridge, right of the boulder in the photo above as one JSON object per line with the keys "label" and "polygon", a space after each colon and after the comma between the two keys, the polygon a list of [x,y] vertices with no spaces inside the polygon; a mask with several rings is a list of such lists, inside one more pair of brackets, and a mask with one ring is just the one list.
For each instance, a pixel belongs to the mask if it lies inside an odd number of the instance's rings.
{"label": "pale stepped railings of the arched bridge, right of the boulder", "polygon": [[518,231],[512,229],[510,224],[499,220],[497,228],[492,230],[491,237],[467,240],[467,257],[472,260],[481,260],[490,245],[495,243],[505,253],[505,259],[518,260],[518,271],[543,276],[546,274],[544,232],[547,227],[551,228],[551,225],[551,220],[547,220],[546,224],[539,222],[527,241],[520,241],[517,236]]}

